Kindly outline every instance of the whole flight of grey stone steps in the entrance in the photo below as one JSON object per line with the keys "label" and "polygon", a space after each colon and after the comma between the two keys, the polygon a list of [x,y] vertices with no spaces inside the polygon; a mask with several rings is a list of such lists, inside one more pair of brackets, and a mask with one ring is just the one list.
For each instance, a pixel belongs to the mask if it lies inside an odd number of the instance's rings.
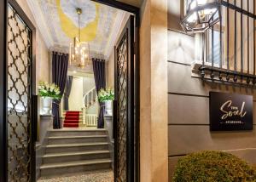
{"label": "whole flight of grey stone steps in the entrance", "polygon": [[42,177],[111,168],[105,129],[49,130],[47,139]]}

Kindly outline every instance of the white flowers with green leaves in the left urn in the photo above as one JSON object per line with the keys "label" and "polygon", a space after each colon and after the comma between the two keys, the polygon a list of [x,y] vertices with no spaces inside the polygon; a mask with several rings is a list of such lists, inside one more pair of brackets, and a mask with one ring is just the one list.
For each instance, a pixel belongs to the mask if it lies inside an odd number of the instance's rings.
{"label": "white flowers with green leaves in the left urn", "polygon": [[39,82],[38,92],[41,97],[50,97],[54,100],[61,99],[60,88],[55,83]]}

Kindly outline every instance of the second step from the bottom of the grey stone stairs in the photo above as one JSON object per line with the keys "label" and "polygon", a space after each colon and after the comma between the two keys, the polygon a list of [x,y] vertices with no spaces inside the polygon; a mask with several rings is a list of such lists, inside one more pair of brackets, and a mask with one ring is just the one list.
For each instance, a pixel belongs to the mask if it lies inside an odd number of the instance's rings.
{"label": "second step from the bottom of the grey stone stairs", "polygon": [[56,162],[75,162],[81,160],[92,159],[107,159],[110,158],[110,152],[105,151],[73,151],[73,152],[61,152],[46,154],[43,156],[43,163],[56,163]]}

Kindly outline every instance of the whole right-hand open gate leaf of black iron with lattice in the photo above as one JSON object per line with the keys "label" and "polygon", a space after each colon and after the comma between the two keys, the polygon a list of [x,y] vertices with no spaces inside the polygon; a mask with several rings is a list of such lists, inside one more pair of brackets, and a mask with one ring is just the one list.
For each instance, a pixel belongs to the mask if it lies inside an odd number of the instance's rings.
{"label": "whole right-hand open gate leaf of black iron with lattice", "polygon": [[134,18],[115,48],[115,181],[134,181]]}

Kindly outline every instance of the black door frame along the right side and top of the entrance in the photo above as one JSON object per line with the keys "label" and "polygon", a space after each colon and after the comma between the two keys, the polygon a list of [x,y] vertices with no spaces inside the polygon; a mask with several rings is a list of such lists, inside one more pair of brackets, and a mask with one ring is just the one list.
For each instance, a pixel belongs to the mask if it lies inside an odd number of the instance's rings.
{"label": "black door frame along the right side and top of the entrance", "polygon": [[[134,61],[134,103],[136,105],[135,107],[135,117],[134,117],[134,125],[136,130],[134,131],[135,134],[135,163],[136,163],[136,169],[135,169],[135,181],[140,181],[140,100],[139,100],[139,94],[140,94],[140,70],[139,70],[139,27],[140,27],[140,9],[131,6],[127,3],[121,3],[119,1],[115,0],[91,0],[96,3],[102,3],[107,6],[121,9],[124,11],[127,11],[135,16],[135,44],[134,44],[134,54],[135,54],[135,61]],[[133,107],[132,107],[133,108]],[[134,111],[131,111],[133,113]],[[132,179],[132,176],[129,176],[128,179]],[[130,182],[130,181],[129,181]]]}

